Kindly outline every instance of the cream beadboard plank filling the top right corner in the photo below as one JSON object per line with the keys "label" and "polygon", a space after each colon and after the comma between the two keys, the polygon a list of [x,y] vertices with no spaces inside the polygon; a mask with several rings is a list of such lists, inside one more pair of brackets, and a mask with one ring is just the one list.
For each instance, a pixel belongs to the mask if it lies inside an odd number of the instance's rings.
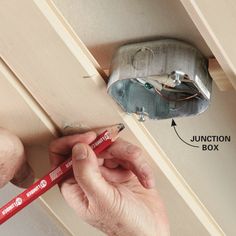
{"label": "cream beadboard plank filling the top right corner", "polygon": [[236,89],[236,2],[181,0],[225,74]]}

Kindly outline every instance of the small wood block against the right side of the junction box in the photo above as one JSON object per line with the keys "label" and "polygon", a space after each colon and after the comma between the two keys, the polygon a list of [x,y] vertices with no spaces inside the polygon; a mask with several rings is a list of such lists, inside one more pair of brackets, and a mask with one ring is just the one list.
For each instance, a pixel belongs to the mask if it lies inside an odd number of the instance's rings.
{"label": "small wood block against the right side of the junction box", "polygon": [[233,89],[232,84],[230,83],[228,77],[226,76],[225,72],[221,68],[220,64],[215,58],[210,58],[208,60],[208,71],[215,81],[217,87],[220,91],[228,91]]}

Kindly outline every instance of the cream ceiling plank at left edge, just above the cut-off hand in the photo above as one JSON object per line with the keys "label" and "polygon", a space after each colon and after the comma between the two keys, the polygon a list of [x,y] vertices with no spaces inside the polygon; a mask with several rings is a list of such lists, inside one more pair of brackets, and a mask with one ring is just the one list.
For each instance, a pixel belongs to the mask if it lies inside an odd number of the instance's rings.
{"label": "cream ceiling plank at left edge, just above the cut-off hand", "polygon": [[47,142],[51,133],[9,83],[14,79],[0,60],[0,127],[21,137],[26,145]]}

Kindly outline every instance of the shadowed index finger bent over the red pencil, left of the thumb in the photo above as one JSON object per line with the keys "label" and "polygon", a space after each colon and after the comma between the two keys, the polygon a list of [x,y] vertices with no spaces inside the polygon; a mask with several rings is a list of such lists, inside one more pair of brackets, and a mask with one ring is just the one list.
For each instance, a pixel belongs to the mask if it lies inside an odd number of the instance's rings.
{"label": "shadowed index finger bent over the red pencil, left of the thumb", "polygon": [[49,158],[52,168],[57,167],[71,155],[71,150],[76,143],[89,144],[96,136],[95,132],[90,131],[84,134],[65,136],[52,141],[49,146]]}

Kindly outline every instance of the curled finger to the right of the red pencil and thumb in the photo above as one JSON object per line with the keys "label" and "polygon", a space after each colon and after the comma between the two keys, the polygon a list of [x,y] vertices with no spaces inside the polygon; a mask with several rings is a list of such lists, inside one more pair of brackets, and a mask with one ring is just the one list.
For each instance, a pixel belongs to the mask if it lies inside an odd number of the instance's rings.
{"label": "curled finger to the right of the red pencil and thumb", "polygon": [[[114,160],[126,169],[131,170],[145,188],[154,187],[155,180],[152,169],[141,156],[139,147],[123,140],[117,140],[100,157],[105,159],[105,163],[107,160]],[[114,161],[113,165],[115,165]]]}

